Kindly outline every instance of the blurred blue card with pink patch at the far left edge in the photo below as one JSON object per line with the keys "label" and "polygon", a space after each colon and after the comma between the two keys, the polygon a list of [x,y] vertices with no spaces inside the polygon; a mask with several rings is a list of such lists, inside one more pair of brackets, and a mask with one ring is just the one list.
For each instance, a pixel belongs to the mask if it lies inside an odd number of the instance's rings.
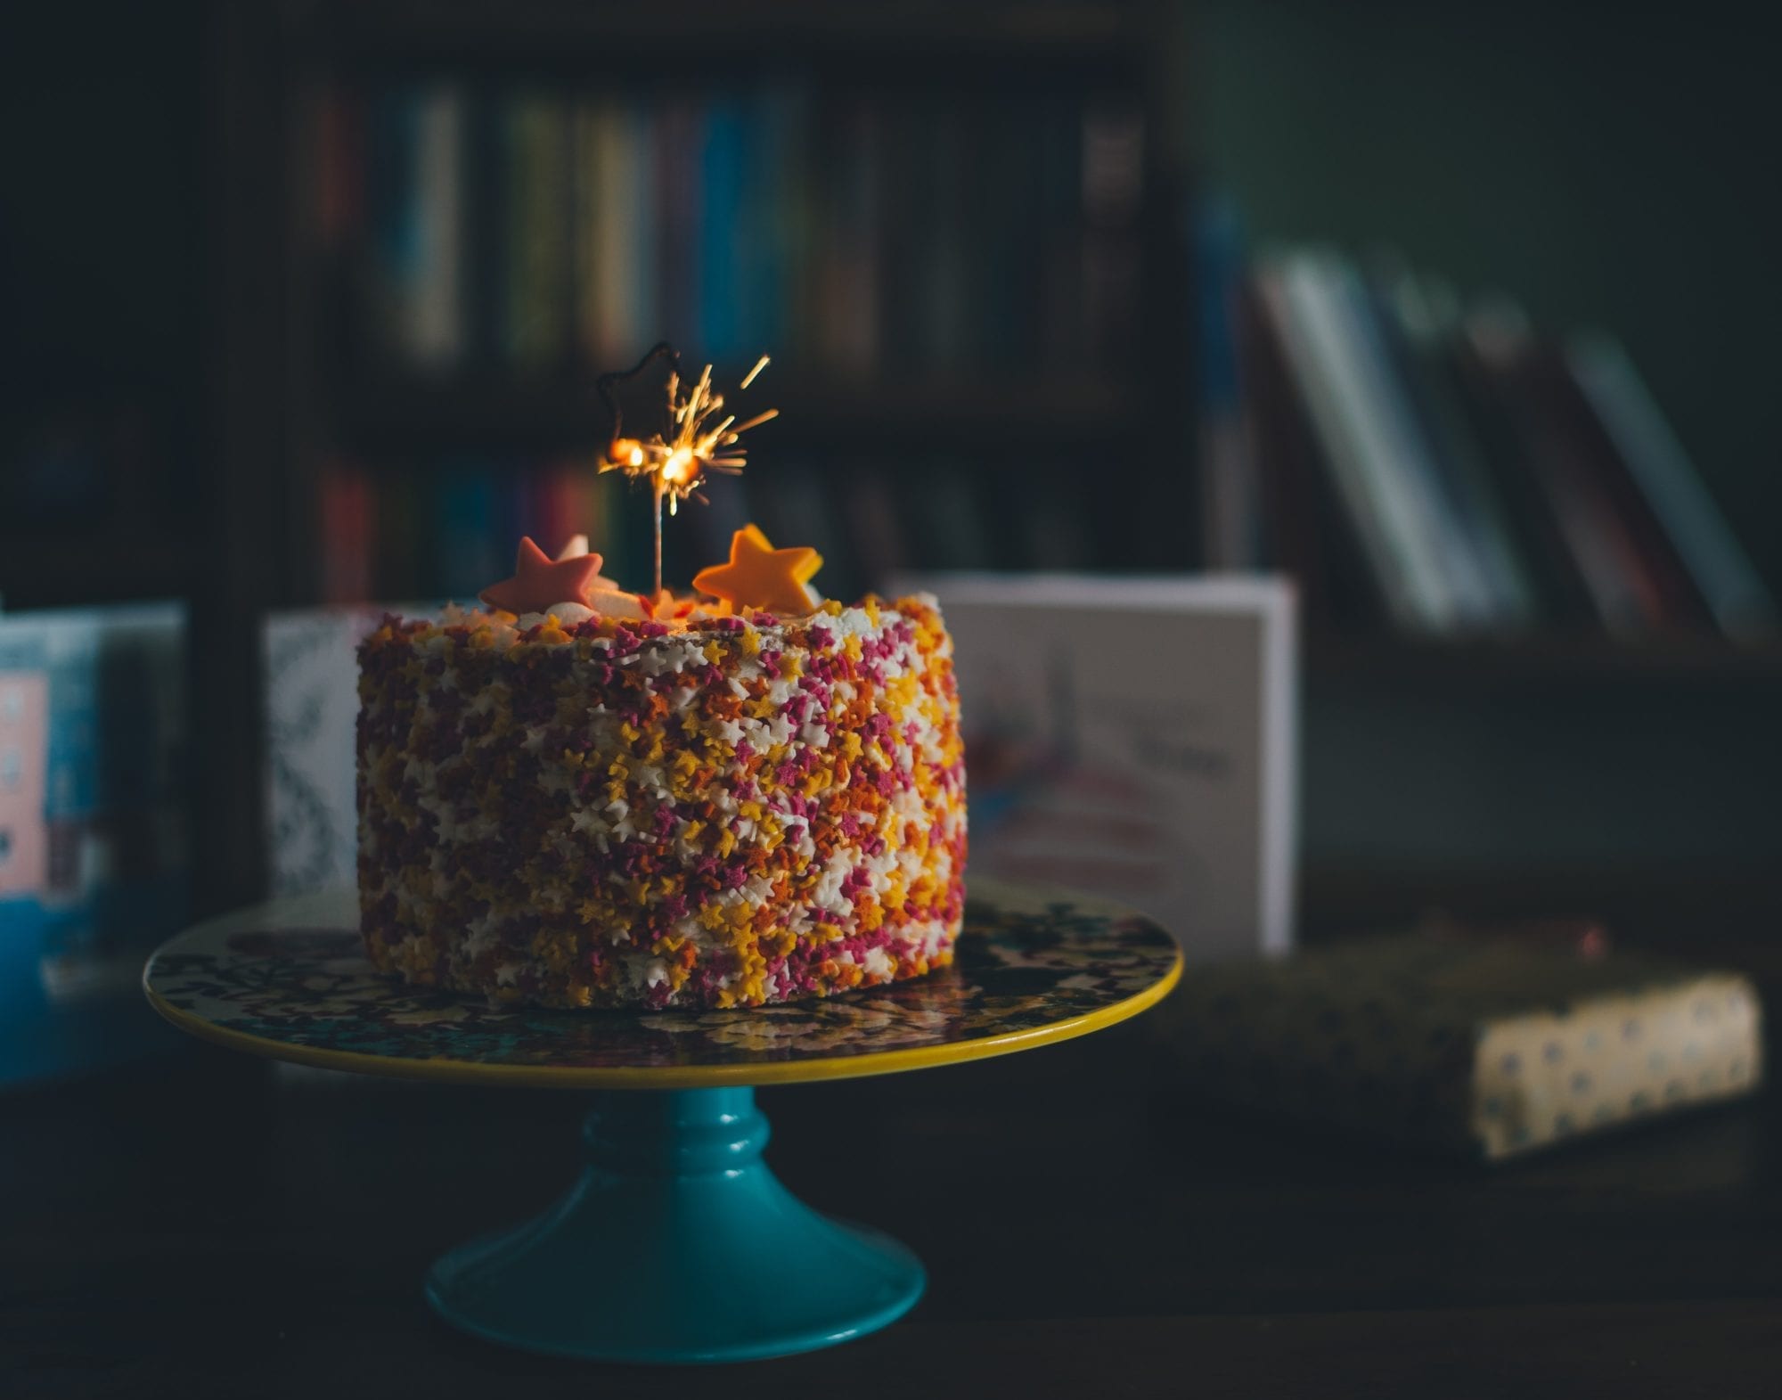
{"label": "blurred blue card with pink patch at the far left edge", "polygon": [[0,1085],[175,1044],[143,962],[189,914],[185,609],[0,616]]}

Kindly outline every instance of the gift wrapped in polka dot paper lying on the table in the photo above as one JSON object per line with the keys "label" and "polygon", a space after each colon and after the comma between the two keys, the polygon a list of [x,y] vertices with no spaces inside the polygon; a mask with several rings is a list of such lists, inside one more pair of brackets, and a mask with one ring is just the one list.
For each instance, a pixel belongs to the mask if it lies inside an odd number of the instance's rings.
{"label": "gift wrapped in polka dot paper lying on the table", "polygon": [[1153,1031],[1208,1095],[1484,1160],[1762,1076],[1746,978],[1509,939],[1381,937],[1194,969]]}

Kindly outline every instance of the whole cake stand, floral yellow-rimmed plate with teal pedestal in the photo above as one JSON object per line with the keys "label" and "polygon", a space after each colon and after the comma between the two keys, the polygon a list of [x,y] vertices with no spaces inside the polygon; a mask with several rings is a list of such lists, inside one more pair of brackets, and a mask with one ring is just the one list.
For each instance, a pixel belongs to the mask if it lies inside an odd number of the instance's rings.
{"label": "whole cake stand, floral yellow-rimmed plate with teal pedestal", "polygon": [[200,924],[143,973],[168,1021],[232,1049],[360,1074],[593,1092],[568,1195],[428,1274],[451,1323],[533,1352],[745,1361],[877,1331],[921,1263],[797,1201],[761,1160],[756,1085],[957,1065],[1112,1026],[1181,973],[1142,916],[975,880],[952,967],[736,1012],[495,1010],[376,974],[351,894]]}

